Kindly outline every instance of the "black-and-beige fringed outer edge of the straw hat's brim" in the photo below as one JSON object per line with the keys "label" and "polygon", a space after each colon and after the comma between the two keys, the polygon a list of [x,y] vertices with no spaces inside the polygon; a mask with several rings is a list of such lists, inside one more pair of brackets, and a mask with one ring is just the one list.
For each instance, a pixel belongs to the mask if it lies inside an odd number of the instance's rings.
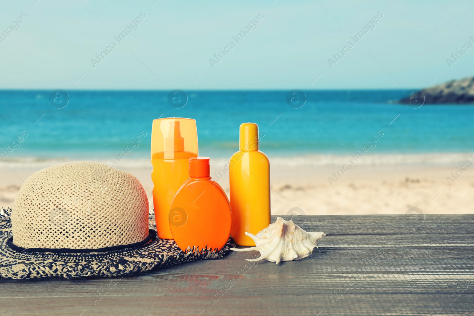
{"label": "black-and-beige fringed outer edge of the straw hat's brim", "polygon": [[[154,224],[154,214],[150,212],[149,215],[150,223],[153,222]],[[0,209],[0,235],[11,235],[11,208]],[[146,247],[146,249],[143,247]],[[137,247],[136,249],[129,248],[126,251],[104,253],[103,260],[94,258],[95,260],[91,262],[78,262],[81,260],[81,257],[83,260],[86,260],[83,255],[77,256],[78,261],[71,262],[75,261],[71,260],[71,255],[67,259],[62,258],[60,254],[56,255],[54,259],[46,259],[41,257],[22,257],[19,254],[16,258],[8,258],[16,261],[16,264],[12,265],[10,260],[8,260],[8,263],[0,262],[0,279],[123,277],[130,274],[158,270],[184,262],[222,258],[229,253],[231,247],[235,247],[232,237],[229,238],[220,251],[207,247],[205,249],[188,247],[186,252],[179,249],[174,244],[174,241],[155,239],[151,244]],[[108,256],[109,258],[107,258]]]}

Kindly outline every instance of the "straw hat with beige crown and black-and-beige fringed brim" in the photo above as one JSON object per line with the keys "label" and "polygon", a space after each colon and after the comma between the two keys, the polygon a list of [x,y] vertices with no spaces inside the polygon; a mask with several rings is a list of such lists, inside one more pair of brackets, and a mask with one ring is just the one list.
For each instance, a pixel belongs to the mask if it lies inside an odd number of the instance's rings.
{"label": "straw hat with beige crown and black-and-beige fringed brim", "polygon": [[64,163],[33,173],[12,209],[0,210],[0,277],[123,276],[222,257],[184,253],[156,236],[136,177],[101,163]]}

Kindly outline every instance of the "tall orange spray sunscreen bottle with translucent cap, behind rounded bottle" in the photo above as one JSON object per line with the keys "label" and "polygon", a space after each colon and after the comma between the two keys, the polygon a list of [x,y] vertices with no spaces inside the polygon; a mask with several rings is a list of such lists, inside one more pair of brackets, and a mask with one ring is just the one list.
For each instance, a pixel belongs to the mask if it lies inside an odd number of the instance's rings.
{"label": "tall orange spray sunscreen bottle with translucent cap, behind rounded bottle", "polygon": [[151,163],[156,231],[172,239],[168,215],[174,195],[189,177],[189,158],[198,155],[198,132],[192,118],[168,117],[153,120]]}

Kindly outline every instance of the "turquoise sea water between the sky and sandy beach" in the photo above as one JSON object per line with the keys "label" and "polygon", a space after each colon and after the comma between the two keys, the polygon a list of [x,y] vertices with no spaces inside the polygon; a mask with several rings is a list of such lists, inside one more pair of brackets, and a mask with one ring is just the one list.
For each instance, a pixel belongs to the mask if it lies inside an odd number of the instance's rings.
{"label": "turquoise sea water between the sky and sandy beach", "polygon": [[301,108],[288,105],[288,91],[186,91],[183,108],[169,104],[169,91],[68,91],[67,106],[55,108],[50,92],[0,91],[0,150],[23,131],[28,134],[13,143],[19,147],[8,160],[107,158],[125,149],[141,131],[146,136],[134,143],[137,148],[129,157],[148,158],[151,123],[158,117],[196,119],[200,154],[216,158],[237,151],[243,122],[260,126],[265,153],[282,156],[354,153],[378,131],[383,137],[376,143],[377,153],[474,148],[474,107],[410,108],[390,102],[404,96],[405,90],[305,91]]}

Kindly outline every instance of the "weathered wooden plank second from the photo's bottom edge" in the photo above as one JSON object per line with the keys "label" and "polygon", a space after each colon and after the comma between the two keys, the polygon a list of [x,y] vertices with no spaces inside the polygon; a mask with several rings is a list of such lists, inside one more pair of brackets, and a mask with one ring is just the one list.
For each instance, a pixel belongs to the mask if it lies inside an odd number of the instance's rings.
{"label": "weathered wooden plank second from the photo's bottom edge", "polygon": [[[237,271],[238,272],[238,271]],[[278,271],[276,271],[278,272]],[[61,282],[58,282],[61,283]],[[162,275],[148,275],[139,278],[128,277],[115,283],[110,280],[98,280],[85,284],[34,284],[2,286],[3,299],[9,300],[18,297],[15,292],[23,293],[24,298],[61,298],[82,297],[85,300],[100,300],[102,297],[120,296],[135,291],[139,295],[153,293],[155,296],[206,296],[218,298],[219,291],[226,295],[246,295],[245,284],[266,294],[293,294],[306,295],[309,293],[328,294],[332,299],[344,294],[440,294],[446,297],[453,291],[462,289],[465,294],[474,293],[473,274],[433,275],[419,274],[392,274],[383,271],[365,273],[319,273],[311,275],[281,275],[268,273],[255,268],[253,272],[244,274],[194,274],[189,272],[168,273]],[[227,289],[232,288],[230,291]],[[45,291],[45,289],[47,289]],[[120,290],[118,290],[120,289]],[[19,292],[18,292],[19,293]]]}

